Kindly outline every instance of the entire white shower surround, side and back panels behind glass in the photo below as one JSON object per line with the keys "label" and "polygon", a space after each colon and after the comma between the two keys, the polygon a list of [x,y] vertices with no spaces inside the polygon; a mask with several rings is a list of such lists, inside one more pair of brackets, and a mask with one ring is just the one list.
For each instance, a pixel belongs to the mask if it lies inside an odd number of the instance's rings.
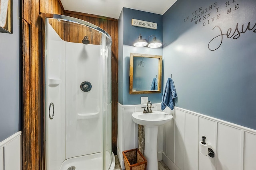
{"label": "entire white shower surround, side and back panels behind glass", "polygon": [[[102,152],[103,66],[100,45],[65,42],[50,24],[47,31],[46,163],[58,170],[68,158]],[[80,89],[84,81],[89,92]]]}

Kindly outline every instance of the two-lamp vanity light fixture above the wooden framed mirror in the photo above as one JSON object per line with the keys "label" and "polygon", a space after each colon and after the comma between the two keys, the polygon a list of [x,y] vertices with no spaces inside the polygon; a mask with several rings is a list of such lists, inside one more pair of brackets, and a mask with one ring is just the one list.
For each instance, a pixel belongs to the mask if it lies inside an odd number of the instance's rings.
{"label": "two-lamp vanity light fixture above the wooden framed mirror", "polygon": [[[149,37],[152,37],[154,36],[153,40],[150,41],[150,43],[148,44],[148,41],[149,41]],[[162,46],[162,43],[156,39],[156,36],[155,35],[150,35],[148,37],[148,40],[146,39],[142,39],[142,36],[141,34],[139,35],[139,39],[138,41],[136,41],[133,46],[135,47],[145,47],[148,45],[149,48],[158,48],[158,47],[161,47]]]}

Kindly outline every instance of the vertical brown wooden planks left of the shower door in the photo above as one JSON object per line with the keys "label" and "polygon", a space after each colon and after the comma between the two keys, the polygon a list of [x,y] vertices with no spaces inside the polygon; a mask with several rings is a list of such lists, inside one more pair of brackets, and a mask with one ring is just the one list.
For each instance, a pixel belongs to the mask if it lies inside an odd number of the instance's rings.
{"label": "vertical brown wooden planks left of the shower door", "polygon": [[[41,18],[64,14],[58,0],[22,0],[22,169],[41,170]],[[63,32],[63,30],[62,30]],[[63,36],[62,36],[63,37]]]}

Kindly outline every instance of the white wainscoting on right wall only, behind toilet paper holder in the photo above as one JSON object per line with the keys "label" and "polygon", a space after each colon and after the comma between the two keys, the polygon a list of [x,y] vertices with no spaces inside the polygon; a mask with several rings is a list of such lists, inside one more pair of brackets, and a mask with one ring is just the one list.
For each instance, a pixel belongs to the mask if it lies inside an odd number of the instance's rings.
{"label": "white wainscoting on right wall only, behind toilet paper holder", "polygon": [[[170,170],[256,170],[256,130],[179,107],[174,110],[174,129],[166,124],[162,140],[163,161]],[[200,154],[202,136],[214,158]]]}

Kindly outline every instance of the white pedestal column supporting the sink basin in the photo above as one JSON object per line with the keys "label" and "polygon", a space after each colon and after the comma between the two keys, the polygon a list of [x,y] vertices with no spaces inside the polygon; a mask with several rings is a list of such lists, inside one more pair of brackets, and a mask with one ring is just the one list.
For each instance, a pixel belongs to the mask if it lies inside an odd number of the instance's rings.
{"label": "white pedestal column supporting the sink basin", "polygon": [[157,133],[158,126],[145,126],[145,158],[148,161],[147,170],[158,170]]}

